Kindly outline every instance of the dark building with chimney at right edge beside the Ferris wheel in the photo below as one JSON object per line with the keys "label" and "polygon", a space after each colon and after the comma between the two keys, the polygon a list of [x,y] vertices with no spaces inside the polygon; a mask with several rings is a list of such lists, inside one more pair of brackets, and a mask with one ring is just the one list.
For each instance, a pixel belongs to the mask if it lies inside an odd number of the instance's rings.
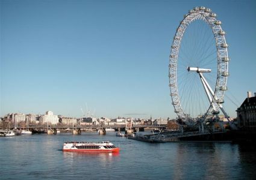
{"label": "dark building with chimney at right edge beside the Ferris wheel", "polygon": [[256,130],[256,93],[254,93],[254,97],[252,97],[251,92],[248,92],[247,98],[236,112],[237,125],[239,128]]}

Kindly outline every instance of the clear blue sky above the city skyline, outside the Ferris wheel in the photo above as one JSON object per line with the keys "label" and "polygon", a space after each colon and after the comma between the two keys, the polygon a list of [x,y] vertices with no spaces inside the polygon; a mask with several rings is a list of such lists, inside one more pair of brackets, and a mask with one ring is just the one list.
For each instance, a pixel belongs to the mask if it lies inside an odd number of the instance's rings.
{"label": "clear blue sky above the city skyline, outside the Ferris wheel", "polygon": [[[255,1],[0,1],[1,111],[175,118],[169,53],[183,15],[217,13],[227,35],[229,91],[256,92]],[[239,104],[240,105],[240,104]],[[229,115],[235,106],[226,99]],[[134,115],[127,115],[134,114]],[[137,115],[135,115],[137,114]]]}

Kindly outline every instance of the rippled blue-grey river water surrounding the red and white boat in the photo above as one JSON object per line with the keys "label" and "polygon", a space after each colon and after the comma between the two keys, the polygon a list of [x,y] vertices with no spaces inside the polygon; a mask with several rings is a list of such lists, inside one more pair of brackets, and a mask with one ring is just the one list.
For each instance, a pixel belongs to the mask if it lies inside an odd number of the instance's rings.
{"label": "rippled blue-grey river water surrounding the red and white boat", "polygon": [[[118,154],[63,152],[65,141],[110,140]],[[107,132],[0,137],[0,179],[256,179],[254,148],[146,143]]]}

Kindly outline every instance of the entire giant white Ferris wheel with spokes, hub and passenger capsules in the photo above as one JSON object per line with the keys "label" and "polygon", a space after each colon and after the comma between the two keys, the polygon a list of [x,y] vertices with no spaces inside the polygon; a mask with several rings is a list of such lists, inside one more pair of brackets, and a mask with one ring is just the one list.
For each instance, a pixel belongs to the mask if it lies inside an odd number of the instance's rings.
{"label": "entire giant white Ferris wheel with spokes, hub and passenger capsules", "polygon": [[170,96],[187,125],[211,121],[222,107],[228,71],[228,44],[222,22],[210,8],[195,7],[176,29],[169,58]]}

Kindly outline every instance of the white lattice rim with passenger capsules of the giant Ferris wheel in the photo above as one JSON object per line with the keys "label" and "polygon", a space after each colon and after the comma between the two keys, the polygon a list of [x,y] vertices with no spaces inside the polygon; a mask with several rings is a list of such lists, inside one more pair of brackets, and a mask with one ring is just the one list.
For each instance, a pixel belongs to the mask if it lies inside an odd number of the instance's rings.
{"label": "white lattice rim with passenger capsules of the giant Ferris wheel", "polygon": [[[170,59],[169,59],[169,86],[170,96],[172,97],[172,104],[179,119],[182,119],[186,124],[195,124],[193,119],[189,118],[184,112],[181,106],[181,101],[178,93],[178,80],[177,80],[177,64],[178,55],[180,50],[181,41],[183,35],[186,32],[187,26],[193,23],[196,19],[201,19],[206,22],[213,32],[214,40],[216,42],[217,52],[217,77],[214,87],[214,95],[208,110],[204,113],[204,119],[211,114],[215,114],[219,111],[219,104],[222,103],[223,97],[226,91],[226,82],[228,73],[228,44],[225,39],[225,31],[222,30],[221,22],[216,19],[216,14],[211,12],[210,8],[195,7],[189,11],[189,14],[184,15],[184,19],[180,22],[180,25],[176,29],[175,36],[173,38]],[[213,111],[214,110],[214,111]]]}

